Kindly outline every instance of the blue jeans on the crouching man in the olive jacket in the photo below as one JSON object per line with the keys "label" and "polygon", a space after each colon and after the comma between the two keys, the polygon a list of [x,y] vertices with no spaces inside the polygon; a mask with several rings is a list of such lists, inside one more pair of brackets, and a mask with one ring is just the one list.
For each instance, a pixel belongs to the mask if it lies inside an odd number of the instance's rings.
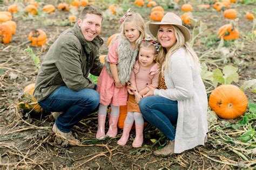
{"label": "blue jeans on the crouching man in the olive jacket", "polygon": [[84,88],[72,91],[66,86],[60,86],[38,104],[50,112],[63,111],[55,123],[60,131],[70,132],[75,124],[96,111],[99,105],[99,94],[95,89]]}

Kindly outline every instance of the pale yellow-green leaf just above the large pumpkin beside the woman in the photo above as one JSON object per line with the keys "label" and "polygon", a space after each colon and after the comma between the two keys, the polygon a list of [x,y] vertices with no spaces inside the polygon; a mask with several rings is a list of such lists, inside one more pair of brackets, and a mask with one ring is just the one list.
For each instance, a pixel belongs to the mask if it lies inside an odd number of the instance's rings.
{"label": "pale yellow-green leaf just above the large pumpkin beside the woman", "polygon": [[232,81],[238,82],[238,73],[237,73],[238,68],[228,65],[223,68],[223,73],[224,73],[224,79],[225,79],[225,84],[231,84]]}

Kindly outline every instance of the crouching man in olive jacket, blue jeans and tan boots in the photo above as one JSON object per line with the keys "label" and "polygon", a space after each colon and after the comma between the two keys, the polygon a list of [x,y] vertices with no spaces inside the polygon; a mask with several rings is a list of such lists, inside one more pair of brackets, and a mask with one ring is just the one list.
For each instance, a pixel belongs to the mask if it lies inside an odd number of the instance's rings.
{"label": "crouching man in olive jacket, blue jeans and tan boots", "polygon": [[39,69],[34,96],[47,111],[62,112],[52,131],[68,139],[70,145],[80,144],[71,129],[96,110],[99,94],[89,73],[98,76],[103,68],[99,60],[98,36],[103,13],[86,6],[73,28],[65,30],[52,44]]}

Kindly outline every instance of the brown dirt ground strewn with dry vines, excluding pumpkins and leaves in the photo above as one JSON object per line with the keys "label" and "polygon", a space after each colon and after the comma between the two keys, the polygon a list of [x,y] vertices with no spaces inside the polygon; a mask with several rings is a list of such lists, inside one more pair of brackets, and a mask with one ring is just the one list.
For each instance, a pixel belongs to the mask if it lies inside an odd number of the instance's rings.
{"label": "brown dirt ground strewn with dry vines, excluding pumpkins and leaves", "polygon": [[[57,1],[55,1],[56,3]],[[56,3],[57,4],[57,3]],[[6,10],[6,6],[0,6],[0,11]],[[21,6],[23,4],[20,4]],[[25,5],[23,5],[25,6]],[[239,82],[234,83],[238,87],[246,80],[255,79],[255,38],[248,38],[252,30],[252,21],[245,18],[246,11],[256,8],[256,4],[232,4],[235,9],[239,8],[239,43],[243,48],[235,47],[230,42],[230,51],[234,54],[227,58],[227,63],[207,63],[209,69],[223,68],[230,64],[239,68]],[[103,9],[105,10],[105,9]],[[140,10],[134,7],[134,11],[142,12],[146,24],[150,22],[150,9],[144,7]],[[166,9],[179,16],[180,9]],[[45,15],[44,18],[42,15]],[[208,140],[205,146],[197,146],[191,150],[171,157],[160,158],[153,155],[153,151],[165,144],[163,135],[153,126],[147,125],[144,131],[144,144],[141,148],[131,146],[134,139],[134,130],[126,146],[118,146],[117,140],[122,134],[104,141],[95,139],[97,131],[97,112],[83,119],[73,128],[75,136],[82,141],[80,146],[69,146],[66,141],[59,140],[51,131],[54,120],[51,115],[41,118],[30,118],[23,115],[22,110],[17,108],[18,98],[23,89],[30,83],[35,82],[37,71],[30,56],[23,49],[28,47],[24,42],[30,31],[42,29],[48,36],[48,42],[42,48],[32,47],[33,52],[39,55],[41,61],[51,44],[60,33],[71,27],[67,22],[69,12],[56,11],[51,14],[28,17],[21,13],[14,16],[17,23],[17,31],[8,45],[0,44],[0,168],[83,168],[83,169],[229,169],[229,168],[252,168],[255,167],[255,154],[246,151],[247,144],[240,144],[235,140],[226,142],[219,137],[218,128],[225,129],[223,120],[218,119],[214,123],[209,122]],[[194,49],[199,57],[211,48],[217,48],[219,41],[211,40],[211,35],[216,34],[220,26],[228,24],[230,20],[216,12],[212,7],[208,10],[194,8],[193,16],[205,22],[208,33],[194,42]],[[104,39],[104,45],[100,48],[100,54],[107,53],[107,38],[113,33],[119,32],[119,18],[105,19],[100,36]],[[192,27],[190,30],[192,31]],[[206,44],[212,43],[212,46]],[[211,60],[219,59],[220,54],[214,53],[209,56]],[[207,87],[207,84],[206,84]],[[212,90],[212,89],[211,89]],[[209,90],[210,91],[210,90]],[[248,101],[255,103],[255,93],[245,90]],[[240,121],[241,118],[231,120],[229,123]],[[255,123],[253,124],[255,127]],[[217,127],[218,126],[218,127]],[[216,128],[217,127],[217,128]],[[225,129],[232,132],[232,129]],[[234,137],[236,138],[236,137]],[[152,143],[156,139],[156,143]],[[244,146],[246,145],[246,150]],[[240,147],[240,154],[232,151],[232,148]],[[247,147],[248,146],[248,147]],[[250,164],[250,165],[248,165]],[[247,165],[247,166],[246,166]]]}

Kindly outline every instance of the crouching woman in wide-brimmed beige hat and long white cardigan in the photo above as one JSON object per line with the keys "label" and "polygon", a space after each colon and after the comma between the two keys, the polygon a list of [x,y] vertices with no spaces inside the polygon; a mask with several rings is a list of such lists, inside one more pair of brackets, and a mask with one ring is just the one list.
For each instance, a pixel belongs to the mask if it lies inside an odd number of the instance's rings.
{"label": "crouching woman in wide-brimmed beige hat and long white cardigan", "polygon": [[166,13],[160,23],[150,23],[149,29],[162,46],[157,58],[159,89],[147,86],[150,91],[145,96],[149,97],[140,100],[139,108],[168,140],[154,154],[166,156],[204,145],[208,131],[207,95],[198,56],[188,44],[190,31],[172,12]]}

